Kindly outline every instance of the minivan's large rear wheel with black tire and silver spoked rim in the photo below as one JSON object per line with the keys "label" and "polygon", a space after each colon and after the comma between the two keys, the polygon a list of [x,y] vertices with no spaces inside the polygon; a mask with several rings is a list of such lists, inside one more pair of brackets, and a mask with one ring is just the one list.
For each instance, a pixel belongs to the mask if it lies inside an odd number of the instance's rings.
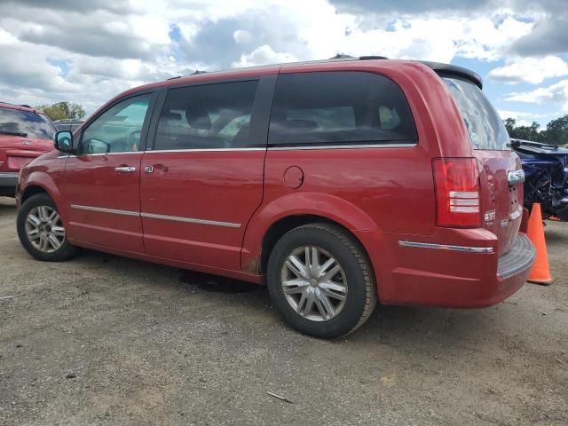
{"label": "minivan's large rear wheel with black tire and silver spoked rim", "polygon": [[[335,264],[339,270],[334,274]],[[367,255],[359,241],[334,225],[303,225],[282,236],[268,260],[267,281],[272,304],[288,324],[306,335],[325,339],[349,335],[375,309],[375,279]]]}

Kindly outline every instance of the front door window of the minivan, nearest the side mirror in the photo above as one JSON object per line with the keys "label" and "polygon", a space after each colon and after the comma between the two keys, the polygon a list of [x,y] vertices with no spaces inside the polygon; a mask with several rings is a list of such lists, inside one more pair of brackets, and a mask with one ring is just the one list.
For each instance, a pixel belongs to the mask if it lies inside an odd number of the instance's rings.
{"label": "front door window of the minivan, nearest the side mirror", "polygon": [[80,154],[125,153],[140,149],[140,136],[152,95],[111,106],[83,130]]}

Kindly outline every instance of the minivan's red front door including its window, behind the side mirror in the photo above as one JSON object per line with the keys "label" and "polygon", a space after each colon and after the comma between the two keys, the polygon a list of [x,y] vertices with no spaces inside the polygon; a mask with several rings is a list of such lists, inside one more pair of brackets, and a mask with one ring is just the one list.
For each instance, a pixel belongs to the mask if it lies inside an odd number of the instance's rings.
{"label": "minivan's red front door including its window, behind the side mirror", "polygon": [[139,178],[152,99],[146,93],[114,103],[75,135],[81,143],[60,186],[70,241],[144,252]]}

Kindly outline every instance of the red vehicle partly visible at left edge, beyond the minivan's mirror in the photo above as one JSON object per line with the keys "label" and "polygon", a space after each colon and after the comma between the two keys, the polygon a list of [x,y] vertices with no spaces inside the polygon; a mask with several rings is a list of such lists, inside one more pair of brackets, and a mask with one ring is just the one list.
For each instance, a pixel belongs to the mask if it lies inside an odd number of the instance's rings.
{"label": "red vehicle partly visible at left edge, beyond the minivan's mirror", "polygon": [[0,196],[13,197],[21,167],[53,150],[55,131],[34,108],[0,102]]}

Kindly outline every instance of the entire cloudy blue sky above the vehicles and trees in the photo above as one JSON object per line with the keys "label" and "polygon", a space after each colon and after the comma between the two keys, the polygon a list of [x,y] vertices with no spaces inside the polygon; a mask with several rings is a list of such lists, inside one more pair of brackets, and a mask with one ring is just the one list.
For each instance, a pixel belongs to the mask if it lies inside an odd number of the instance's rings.
{"label": "entire cloudy blue sky above the vehicles and trees", "polygon": [[3,0],[0,99],[77,102],[195,69],[337,52],[451,62],[502,116],[568,114],[565,0]]}

